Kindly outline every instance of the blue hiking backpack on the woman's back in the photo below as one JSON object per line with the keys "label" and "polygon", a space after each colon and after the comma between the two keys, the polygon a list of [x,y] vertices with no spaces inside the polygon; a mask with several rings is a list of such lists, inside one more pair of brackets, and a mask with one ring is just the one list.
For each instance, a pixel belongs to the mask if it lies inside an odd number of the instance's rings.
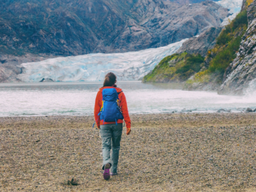
{"label": "blue hiking backpack on the woman's back", "polygon": [[[120,92],[121,93],[121,92]],[[116,122],[123,119],[121,108],[119,106],[119,93],[115,88],[102,90],[102,108],[100,110],[100,120],[104,122]]]}

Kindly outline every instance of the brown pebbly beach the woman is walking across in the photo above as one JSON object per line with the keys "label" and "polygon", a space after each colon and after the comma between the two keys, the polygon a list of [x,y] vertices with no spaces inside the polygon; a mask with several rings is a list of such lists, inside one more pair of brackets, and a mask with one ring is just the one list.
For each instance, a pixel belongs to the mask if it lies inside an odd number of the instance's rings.
{"label": "brown pebbly beach the woman is walking across", "polygon": [[92,116],[0,118],[0,191],[256,191],[256,113],[131,119],[105,181]]}

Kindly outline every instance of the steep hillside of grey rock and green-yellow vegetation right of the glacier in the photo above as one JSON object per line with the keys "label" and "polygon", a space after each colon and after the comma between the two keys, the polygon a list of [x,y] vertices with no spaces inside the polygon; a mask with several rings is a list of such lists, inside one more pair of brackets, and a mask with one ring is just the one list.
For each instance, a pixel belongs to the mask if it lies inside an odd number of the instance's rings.
{"label": "steep hillside of grey rock and green-yellow vegetation right of the glacier", "polygon": [[[186,81],[185,90],[219,94],[243,95],[255,90],[256,2],[244,0],[242,11],[223,30],[210,28],[185,41],[177,53],[165,57],[143,81]],[[196,54],[205,58],[192,65],[188,61],[195,60]]]}

